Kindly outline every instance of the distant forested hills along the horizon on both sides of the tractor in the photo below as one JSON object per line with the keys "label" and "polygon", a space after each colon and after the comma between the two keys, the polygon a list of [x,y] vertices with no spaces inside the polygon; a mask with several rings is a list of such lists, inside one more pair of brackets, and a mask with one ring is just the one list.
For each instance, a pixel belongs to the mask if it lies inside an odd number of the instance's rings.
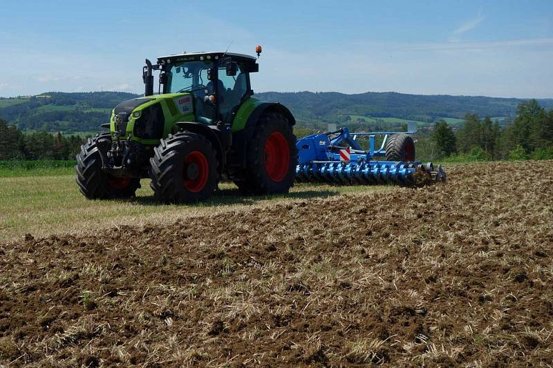
{"label": "distant forested hills along the horizon on both sides of the tractor", "polygon": [[[109,120],[111,109],[132,93],[43,93],[32,97],[0,99],[0,119],[16,124],[21,130],[71,132],[97,131]],[[326,128],[327,122],[338,124],[397,124],[406,121],[422,123],[447,121],[456,124],[465,114],[480,117],[513,117],[523,99],[468,97],[449,95],[406,95],[401,93],[256,93],[267,101],[288,106],[301,126]],[[539,104],[553,108],[553,99]],[[324,125],[322,125],[324,124]]]}

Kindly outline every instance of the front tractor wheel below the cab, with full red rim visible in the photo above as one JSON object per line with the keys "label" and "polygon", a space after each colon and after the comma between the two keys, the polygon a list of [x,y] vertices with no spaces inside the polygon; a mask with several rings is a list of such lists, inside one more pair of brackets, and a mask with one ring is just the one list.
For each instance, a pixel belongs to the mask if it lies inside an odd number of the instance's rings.
{"label": "front tractor wheel below the cab, with full red rim visible", "polygon": [[198,202],[207,200],[217,188],[217,155],[203,135],[187,132],[169,135],[153,151],[150,186],[156,200]]}

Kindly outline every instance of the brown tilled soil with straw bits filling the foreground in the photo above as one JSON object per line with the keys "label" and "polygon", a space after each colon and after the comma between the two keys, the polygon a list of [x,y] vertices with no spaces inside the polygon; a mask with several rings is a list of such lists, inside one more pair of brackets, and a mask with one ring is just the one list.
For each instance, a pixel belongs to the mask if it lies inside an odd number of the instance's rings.
{"label": "brown tilled soil with straw bits filling the foreground", "polygon": [[547,366],[553,162],[0,247],[0,365]]}

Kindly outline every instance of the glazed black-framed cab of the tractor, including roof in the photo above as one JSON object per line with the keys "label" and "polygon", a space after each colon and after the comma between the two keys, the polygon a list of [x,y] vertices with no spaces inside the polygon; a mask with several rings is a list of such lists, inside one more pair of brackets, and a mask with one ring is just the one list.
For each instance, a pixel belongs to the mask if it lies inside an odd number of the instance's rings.
{"label": "glazed black-framed cab of the tractor, including roof", "polygon": [[[160,71],[159,94],[189,93],[196,122],[212,125],[232,123],[242,102],[253,95],[250,72],[257,72],[259,64],[248,55],[197,52],[159,57],[151,68]],[[146,95],[153,95],[148,74],[149,65],[144,66],[144,81]]]}

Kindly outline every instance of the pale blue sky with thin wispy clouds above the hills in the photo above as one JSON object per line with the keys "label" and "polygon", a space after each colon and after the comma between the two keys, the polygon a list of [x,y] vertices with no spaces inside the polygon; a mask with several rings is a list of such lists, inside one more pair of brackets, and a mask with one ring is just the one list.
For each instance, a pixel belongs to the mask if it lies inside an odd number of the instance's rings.
{"label": "pale blue sky with thin wispy clouds above the hills", "polygon": [[143,93],[145,58],[258,44],[259,92],[553,97],[553,0],[0,1],[0,97]]}

